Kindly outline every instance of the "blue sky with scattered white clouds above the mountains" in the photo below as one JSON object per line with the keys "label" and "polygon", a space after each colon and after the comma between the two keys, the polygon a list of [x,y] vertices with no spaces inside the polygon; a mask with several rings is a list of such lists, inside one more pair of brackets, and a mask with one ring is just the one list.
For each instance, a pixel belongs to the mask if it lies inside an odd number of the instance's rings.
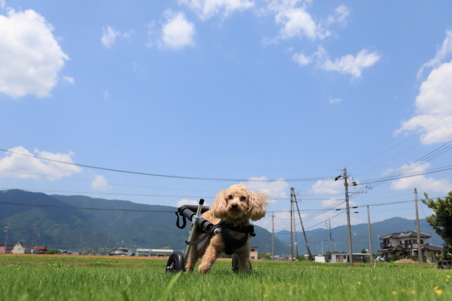
{"label": "blue sky with scattered white clouds above the mountains", "polygon": [[[422,158],[452,139],[449,1],[0,0],[0,9],[0,148],[15,152],[0,154],[1,189],[175,206],[209,203],[235,183],[17,153],[243,179],[271,194],[281,230],[291,186],[300,209],[344,207],[340,181],[287,179],[346,167],[360,182],[419,159],[410,172],[451,165],[448,152]],[[451,183],[451,171],[417,175],[352,200],[413,200],[414,188],[444,196]],[[358,211],[353,223],[366,221]],[[346,221],[315,213],[303,212],[305,227]],[[371,207],[373,221],[392,216],[414,218],[414,205]]]}

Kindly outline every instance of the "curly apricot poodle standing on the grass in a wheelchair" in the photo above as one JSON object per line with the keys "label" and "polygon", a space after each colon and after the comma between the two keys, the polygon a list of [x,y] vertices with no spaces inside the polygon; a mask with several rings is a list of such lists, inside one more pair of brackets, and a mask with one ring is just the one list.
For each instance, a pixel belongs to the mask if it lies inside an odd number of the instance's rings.
{"label": "curly apricot poodle standing on the grass in a wheelchair", "polygon": [[[202,214],[202,217],[215,225],[223,219],[226,223],[221,226],[222,234],[207,238],[200,246],[191,246],[186,261],[186,271],[193,272],[196,262],[202,257],[198,271],[200,274],[208,273],[221,253],[232,252],[231,246],[229,246],[231,245],[230,241],[242,241],[241,244],[246,241],[243,246],[233,250],[233,252],[239,258],[239,270],[249,271],[250,244],[248,243],[248,233],[239,229],[250,226],[250,220],[259,221],[265,216],[266,207],[268,207],[267,200],[268,195],[266,193],[249,191],[243,184],[234,184],[228,189],[218,192],[213,205],[209,211]],[[229,225],[229,227],[226,227],[226,225]],[[231,228],[234,230],[231,230]],[[193,240],[199,239],[200,236],[202,236],[202,232],[197,230]],[[224,238],[229,242],[228,246],[226,246]]]}

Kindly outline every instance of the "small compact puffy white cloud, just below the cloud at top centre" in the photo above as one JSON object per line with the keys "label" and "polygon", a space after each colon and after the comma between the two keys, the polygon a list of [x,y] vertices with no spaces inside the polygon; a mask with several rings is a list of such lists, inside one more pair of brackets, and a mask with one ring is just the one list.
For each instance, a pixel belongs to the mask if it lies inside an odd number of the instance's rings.
{"label": "small compact puffy white cloud, just below the cloud at top centre", "polygon": [[184,46],[193,46],[195,41],[195,25],[188,22],[184,12],[172,12],[166,10],[163,13],[167,23],[161,29],[161,40],[159,46],[179,49]]}

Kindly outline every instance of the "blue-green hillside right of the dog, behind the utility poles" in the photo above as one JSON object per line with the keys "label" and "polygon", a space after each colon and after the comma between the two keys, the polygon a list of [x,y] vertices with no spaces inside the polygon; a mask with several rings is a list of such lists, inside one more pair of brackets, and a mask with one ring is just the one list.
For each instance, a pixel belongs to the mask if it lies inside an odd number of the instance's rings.
{"label": "blue-green hillside right of the dog, behind the utility poles", "polygon": [[[422,233],[426,233],[432,236],[428,239],[428,243],[433,243],[437,246],[442,246],[444,241],[439,237],[433,228],[428,225],[425,219],[419,220],[419,227]],[[408,220],[401,217],[388,218],[385,221],[380,221],[376,223],[371,223],[372,230],[372,248],[373,252],[376,253],[380,249],[380,236],[384,236],[393,232],[403,232],[407,230],[416,230],[416,223],[414,220]],[[356,234],[356,248],[355,248],[355,235],[352,234],[352,246],[353,252],[361,252],[362,249],[369,249],[369,230],[366,223],[352,225],[351,232],[357,232]],[[348,240],[347,240],[347,227],[339,226],[331,229],[332,233],[332,245],[334,251],[344,251],[348,252]],[[275,233],[281,241],[290,244],[290,232],[280,231]],[[307,241],[309,242],[309,247],[311,252],[321,253],[321,246],[323,241],[323,251],[330,251],[330,231],[327,229],[319,228],[315,230],[306,231]],[[316,241],[314,245],[313,241]],[[297,242],[298,242],[298,253],[307,254],[305,238],[302,232],[297,232]],[[316,251],[316,252],[315,252]]]}

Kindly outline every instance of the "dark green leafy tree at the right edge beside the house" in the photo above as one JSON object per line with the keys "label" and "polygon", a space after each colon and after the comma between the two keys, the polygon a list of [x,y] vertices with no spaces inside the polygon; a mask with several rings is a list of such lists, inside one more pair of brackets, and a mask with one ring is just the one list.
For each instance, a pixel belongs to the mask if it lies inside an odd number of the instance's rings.
{"label": "dark green leafy tree at the right edge beside the house", "polygon": [[432,200],[428,198],[426,192],[423,195],[426,196],[426,199],[422,199],[421,202],[433,209],[433,214],[427,216],[426,221],[444,239],[444,248],[450,252],[452,249],[452,191],[449,191],[444,199]]}

